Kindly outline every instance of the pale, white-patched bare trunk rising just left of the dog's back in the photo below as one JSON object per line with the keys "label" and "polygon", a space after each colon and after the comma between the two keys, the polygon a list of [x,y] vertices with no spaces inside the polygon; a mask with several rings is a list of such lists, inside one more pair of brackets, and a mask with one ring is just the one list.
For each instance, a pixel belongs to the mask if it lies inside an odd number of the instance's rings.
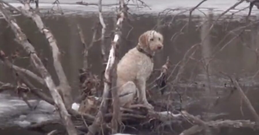
{"label": "pale, white-patched bare trunk rising just left of the dog's back", "polygon": [[[121,0],[120,4],[121,4],[120,5],[121,11],[118,13],[117,25],[116,25],[116,29],[115,29],[115,36],[111,43],[111,50],[110,50],[108,62],[107,62],[105,73],[104,73],[105,81],[104,81],[104,91],[103,91],[103,95],[102,95],[102,102],[101,102],[101,105],[100,105],[100,108],[99,108],[95,121],[93,122],[93,124],[91,126],[89,126],[89,132],[87,133],[87,135],[94,135],[98,131],[98,129],[100,128],[101,122],[103,122],[104,114],[107,111],[107,99],[108,99],[108,94],[111,89],[112,71],[114,69],[115,60],[116,60],[116,46],[117,46],[117,42],[121,36],[122,22],[125,18],[125,14],[127,13],[127,8],[126,8],[126,5],[124,5],[124,0]],[[115,114],[117,114],[116,118],[118,118],[120,116],[119,116],[119,112],[117,111],[116,107],[119,107],[119,104],[118,104],[119,99],[118,99],[118,95],[116,96],[116,94],[117,94],[117,91],[113,89],[113,92],[112,92],[113,106],[114,106],[113,116]],[[116,102],[116,100],[117,100],[117,102]],[[118,120],[115,120],[115,121],[118,121]],[[112,122],[112,123],[114,123],[114,122]],[[115,122],[114,125],[116,125],[116,124],[117,124],[117,122]],[[115,131],[113,131],[113,132],[115,132]]]}

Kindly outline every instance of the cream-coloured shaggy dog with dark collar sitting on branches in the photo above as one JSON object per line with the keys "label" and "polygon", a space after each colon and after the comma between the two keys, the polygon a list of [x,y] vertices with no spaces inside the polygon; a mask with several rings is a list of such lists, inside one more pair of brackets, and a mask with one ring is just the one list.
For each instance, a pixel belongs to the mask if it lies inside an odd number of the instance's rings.
{"label": "cream-coloured shaggy dog with dark collar sitting on branches", "polygon": [[121,107],[129,108],[137,94],[138,103],[154,107],[146,99],[146,80],[153,71],[153,56],[163,49],[163,35],[149,30],[140,35],[138,45],[129,50],[117,65],[117,88]]}

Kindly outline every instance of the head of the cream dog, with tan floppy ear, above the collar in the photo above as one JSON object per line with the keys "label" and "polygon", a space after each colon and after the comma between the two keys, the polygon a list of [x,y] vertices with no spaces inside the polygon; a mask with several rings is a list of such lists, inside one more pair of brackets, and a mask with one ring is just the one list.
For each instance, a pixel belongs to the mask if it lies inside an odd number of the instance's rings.
{"label": "head of the cream dog, with tan floppy ear, above the collar", "polygon": [[155,30],[149,30],[140,35],[138,42],[141,47],[155,52],[163,49],[163,35]]}

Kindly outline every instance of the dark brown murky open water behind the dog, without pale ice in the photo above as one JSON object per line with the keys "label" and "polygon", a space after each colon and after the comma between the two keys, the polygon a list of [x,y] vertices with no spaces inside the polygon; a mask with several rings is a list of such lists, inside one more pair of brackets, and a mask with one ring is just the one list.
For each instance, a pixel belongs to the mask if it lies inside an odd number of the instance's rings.
{"label": "dark brown murky open water behind the dog, without pale ice", "polygon": [[[83,64],[83,46],[77,31],[77,24],[83,28],[86,42],[90,42],[92,39],[91,28],[98,19],[96,15],[97,14],[95,13],[87,13],[85,15],[56,15],[43,17],[44,23],[52,30],[57,39],[58,46],[62,52],[62,65],[68,81],[73,88],[74,97],[79,94],[78,69],[80,69]],[[109,36],[114,27],[114,16],[113,13],[106,13],[104,16],[107,24],[106,35]],[[165,95],[159,96],[158,98],[167,100],[168,95],[170,95],[171,98],[169,100],[174,100],[174,102],[177,103],[180,102],[180,93],[182,107],[194,115],[202,115],[205,120],[212,119],[205,117],[213,116],[214,114],[222,114],[216,119],[254,120],[244,104],[242,107],[243,114],[241,113],[241,98],[237,91],[231,91],[230,80],[221,72],[239,78],[248,98],[254,105],[256,111],[259,112],[259,99],[257,98],[257,95],[259,94],[257,83],[258,76],[256,75],[259,68],[258,54],[255,51],[259,47],[258,24],[247,26],[248,23],[243,21],[241,19],[242,17],[234,19],[228,17],[226,20],[217,22],[214,29],[207,34],[214,16],[213,13],[210,13],[207,15],[207,18],[200,16],[193,17],[193,21],[190,23],[188,29],[187,27],[182,29],[188,20],[188,17],[184,15],[176,16],[174,19],[172,19],[174,15],[162,17],[165,18],[165,20],[159,22],[161,25],[157,30],[164,35],[165,42],[163,51],[159,52],[154,58],[155,69],[160,69],[165,63],[167,56],[169,56],[172,65],[170,71],[172,71],[174,66],[184,58],[184,54],[191,46],[200,43],[201,40],[203,40],[203,42],[196,48],[196,53],[187,62],[177,85],[175,87],[168,87],[165,91]],[[40,34],[29,19],[18,16],[17,20],[28,36],[28,39],[39,52],[41,58],[47,59],[45,62],[47,69],[53,75],[52,53],[44,36]],[[127,50],[133,48],[137,44],[138,36],[142,32],[154,28],[158,24],[157,20],[158,17],[152,14],[133,15],[130,24],[125,23],[123,26],[123,39],[119,47],[119,58],[121,58]],[[168,22],[171,20],[172,23],[169,25]],[[14,53],[16,49],[21,50],[14,41],[14,35],[7,23],[3,19],[0,19],[0,24],[0,48],[4,50],[7,55]],[[241,26],[247,26],[242,33],[240,30],[235,30],[229,34],[231,30]],[[237,38],[234,38],[236,36]],[[225,40],[222,40],[224,38]],[[111,38],[107,38],[105,41],[107,53],[110,42]],[[193,52],[193,50],[191,52]],[[21,52],[21,55],[26,56],[23,55],[23,52]],[[210,58],[212,57],[213,59],[211,60]],[[100,42],[96,42],[93,48],[91,48],[88,60],[91,65],[91,71],[96,75],[100,75],[102,72]],[[27,69],[33,69],[26,58],[17,59],[14,63]],[[208,64],[208,70],[204,69],[204,63]],[[0,71],[1,81],[14,82],[11,71],[2,64],[0,64]],[[175,78],[176,73],[173,73],[170,80]],[[209,74],[209,77],[207,77],[207,73]],[[53,75],[53,78],[56,83],[58,83],[56,75]],[[151,86],[148,88],[150,89]],[[152,89],[151,93],[159,92],[156,89]],[[5,94],[11,94],[11,96],[8,95],[8,97],[15,95],[15,93]],[[5,98],[5,96],[1,96],[1,99],[3,99],[1,103],[7,102],[8,98],[6,98],[6,101],[4,100]],[[3,112],[4,111],[5,110],[3,110]],[[21,111],[21,113],[24,113],[25,115],[30,114],[27,111]],[[6,115],[10,118],[9,120],[0,119],[2,125],[4,125],[4,122],[12,121],[15,117],[20,117],[18,114],[1,113],[1,115]],[[12,116],[10,117],[9,115]],[[175,132],[181,132],[181,130],[177,129]],[[172,133],[175,134],[175,132]],[[211,132],[211,134],[215,135],[254,135],[258,133],[259,132],[254,132],[250,129],[228,128],[222,128]],[[39,133],[29,132],[20,128],[4,128],[3,130],[0,130],[0,134],[36,135]]]}

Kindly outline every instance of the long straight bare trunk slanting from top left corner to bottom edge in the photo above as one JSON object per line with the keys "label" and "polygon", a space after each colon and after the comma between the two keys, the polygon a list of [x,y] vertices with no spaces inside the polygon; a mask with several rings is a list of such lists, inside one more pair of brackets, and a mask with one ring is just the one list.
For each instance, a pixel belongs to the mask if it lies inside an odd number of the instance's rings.
{"label": "long straight bare trunk slanting from top left corner to bottom edge", "polygon": [[[26,5],[25,8],[29,9],[28,5]],[[32,63],[34,64],[36,69],[39,71],[42,78],[45,80],[45,83],[50,90],[52,98],[54,99],[54,102],[58,107],[58,110],[60,112],[60,116],[63,120],[64,125],[66,126],[66,130],[67,130],[68,134],[69,135],[76,135],[77,131],[75,129],[74,124],[72,123],[72,121],[70,119],[70,115],[68,114],[68,112],[66,110],[66,107],[65,107],[65,105],[62,101],[62,98],[58,93],[58,89],[57,89],[56,85],[54,84],[51,75],[49,74],[47,69],[44,67],[40,58],[37,56],[34,47],[31,45],[31,43],[28,41],[26,35],[22,32],[21,28],[16,23],[16,19],[14,19],[8,13],[8,11],[6,10],[6,7],[1,2],[0,2],[0,10],[1,10],[5,20],[11,26],[18,42],[24,48],[24,50],[30,55]]]}

